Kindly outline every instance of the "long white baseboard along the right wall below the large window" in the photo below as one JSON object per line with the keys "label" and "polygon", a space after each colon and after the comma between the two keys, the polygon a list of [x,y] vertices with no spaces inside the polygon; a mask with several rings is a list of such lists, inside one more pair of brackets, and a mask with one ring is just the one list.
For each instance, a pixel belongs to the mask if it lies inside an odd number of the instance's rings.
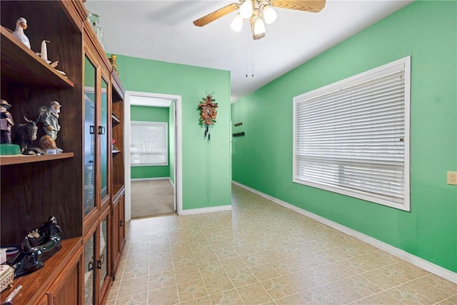
{"label": "long white baseboard along the right wall below the large window", "polygon": [[263,194],[261,191],[257,191],[256,189],[251,189],[249,186],[245,186],[244,184],[240,184],[236,181],[232,181],[232,183],[235,184],[236,186],[240,186],[243,189],[251,191],[254,194],[257,194],[258,196],[262,196],[263,198],[271,200],[276,204],[284,206],[287,209],[291,209],[292,211],[296,211],[299,214],[302,214],[311,219],[319,221],[319,222],[321,222],[321,224],[326,224],[327,226],[331,226],[333,229],[337,229],[338,231],[351,235],[351,236],[355,237],[356,239],[365,241],[367,244],[371,244],[371,246],[376,246],[376,248],[386,251],[388,254],[392,254],[393,256],[396,256],[399,259],[403,259],[404,261],[407,261],[408,263],[413,264],[414,266],[418,266],[421,269],[424,269],[432,274],[436,274],[437,276],[440,276],[443,279],[446,279],[448,281],[453,282],[454,284],[457,284],[457,273],[456,272],[453,272],[451,270],[448,270],[441,266],[433,264],[430,261],[426,261],[425,259],[421,259],[418,256],[415,256],[406,251],[398,249],[394,246],[391,246],[390,244],[386,244],[383,241],[379,241],[378,239],[373,239],[373,237],[365,235],[365,234],[363,234],[359,231],[353,230],[351,228],[348,228],[347,226],[343,226],[334,221],[323,218],[322,216],[318,216],[309,211],[298,208],[297,206],[288,204],[286,201],[282,201],[282,200],[274,198],[270,195]]}

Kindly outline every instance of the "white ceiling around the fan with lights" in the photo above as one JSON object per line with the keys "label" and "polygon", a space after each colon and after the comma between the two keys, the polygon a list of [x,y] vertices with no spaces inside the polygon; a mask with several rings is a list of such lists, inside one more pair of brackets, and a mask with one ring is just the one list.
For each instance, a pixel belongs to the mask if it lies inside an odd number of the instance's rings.
{"label": "white ceiling around the fan with lights", "polygon": [[257,41],[246,22],[240,33],[230,28],[236,12],[203,27],[192,23],[236,0],[87,0],[85,5],[100,16],[107,53],[229,70],[236,101],[412,1],[327,0],[319,13],[276,8],[278,19]]}

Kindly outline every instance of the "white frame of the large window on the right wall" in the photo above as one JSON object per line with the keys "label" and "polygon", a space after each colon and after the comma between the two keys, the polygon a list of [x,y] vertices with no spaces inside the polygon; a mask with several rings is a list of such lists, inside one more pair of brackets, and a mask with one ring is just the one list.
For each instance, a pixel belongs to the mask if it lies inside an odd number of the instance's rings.
{"label": "white frame of the large window on the right wall", "polygon": [[[297,177],[297,105],[306,100],[314,99],[318,96],[329,94],[331,92],[337,92],[338,90],[345,89],[356,84],[363,84],[368,79],[376,79],[384,71],[390,71],[398,68],[398,66],[403,66],[404,71],[404,166],[403,166],[403,183],[404,183],[404,193],[403,193],[403,203],[398,203],[396,201],[390,201],[376,196],[370,196],[366,191],[350,189],[344,186],[338,186],[336,184],[326,184],[317,181],[305,180]],[[318,189],[323,189],[326,191],[332,191],[337,194],[343,194],[346,196],[351,196],[358,199],[363,199],[365,201],[370,201],[375,204],[382,204],[384,206],[390,206],[395,209],[400,209],[403,211],[411,211],[411,199],[410,199],[410,122],[411,122],[411,56],[406,56],[403,59],[398,59],[392,61],[389,64],[383,66],[378,66],[377,68],[362,72],[355,76],[348,77],[341,81],[336,81],[333,84],[323,86],[319,89],[309,91],[307,93],[301,94],[299,96],[293,97],[293,151],[292,151],[292,160],[293,160],[293,171],[292,171],[292,180],[294,183],[303,184],[306,186],[312,186]]]}

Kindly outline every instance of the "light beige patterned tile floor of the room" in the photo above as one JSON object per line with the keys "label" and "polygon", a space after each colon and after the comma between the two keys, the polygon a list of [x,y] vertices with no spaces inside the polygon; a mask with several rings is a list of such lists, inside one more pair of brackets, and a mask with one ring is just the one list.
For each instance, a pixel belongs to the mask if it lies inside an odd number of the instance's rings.
{"label": "light beige patterned tile floor of the room", "polygon": [[132,220],[106,304],[457,304],[457,285],[233,185],[232,211]]}

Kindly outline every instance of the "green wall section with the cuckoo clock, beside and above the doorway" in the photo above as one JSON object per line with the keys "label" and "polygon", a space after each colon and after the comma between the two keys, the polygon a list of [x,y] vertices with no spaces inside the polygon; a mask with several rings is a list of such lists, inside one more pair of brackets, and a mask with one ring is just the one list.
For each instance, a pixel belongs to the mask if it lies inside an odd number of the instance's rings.
{"label": "green wall section with the cuckoo clock, beside and above the doorway", "polygon": [[[181,96],[183,209],[230,205],[230,72],[123,55],[117,63],[126,91]],[[197,111],[206,92],[219,104],[211,141]]]}

